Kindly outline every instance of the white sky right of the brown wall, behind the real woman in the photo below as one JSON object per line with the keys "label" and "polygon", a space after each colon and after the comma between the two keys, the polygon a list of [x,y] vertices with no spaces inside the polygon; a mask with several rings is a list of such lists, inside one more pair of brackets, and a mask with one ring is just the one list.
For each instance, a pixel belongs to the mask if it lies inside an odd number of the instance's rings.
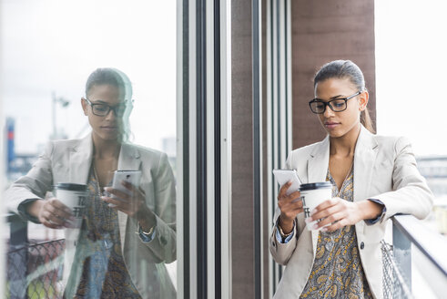
{"label": "white sky right of the brown wall, behind the real woman", "polygon": [[376,0],[377,131],[447,155],[447,1]]}

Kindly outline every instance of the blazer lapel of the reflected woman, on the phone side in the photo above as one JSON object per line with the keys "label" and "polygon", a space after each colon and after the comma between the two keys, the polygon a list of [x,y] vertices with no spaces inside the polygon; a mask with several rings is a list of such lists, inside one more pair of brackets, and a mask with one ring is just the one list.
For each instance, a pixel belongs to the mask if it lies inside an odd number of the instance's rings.
{"label": "blazer lapel of the reflected woman, on the phone side", "polygon": [[[137,147],[130,144],[122,144],[119,151],[117,170],[140,170],[141,159]],[[121,249],[124,251],[124,242],[126,237],[127,214],[118,211],[119,235],[121,237]]]}

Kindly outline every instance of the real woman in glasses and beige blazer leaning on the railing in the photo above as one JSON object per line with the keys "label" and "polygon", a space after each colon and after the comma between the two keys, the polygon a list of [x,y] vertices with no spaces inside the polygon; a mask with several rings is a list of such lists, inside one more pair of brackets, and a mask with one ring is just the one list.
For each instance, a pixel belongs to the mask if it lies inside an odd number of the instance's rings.
{"label": "real woman in glasses and beige blazer leaning on the railing", "polygon": [[[407,139],[374,135],[361,69],[332,61],[314,78],[310,109],[326,139],[295,149],[287,168],[303,183],[329,180],[332,199],[311,212],[308,231],[300,191],[281,187],[269,249],[287,265],[275,298],[382,298],[380,242],[396,213],[419,219],[432,209],[432,192],[416,168]],[[326,226],[328,225],[328,226]]]}

